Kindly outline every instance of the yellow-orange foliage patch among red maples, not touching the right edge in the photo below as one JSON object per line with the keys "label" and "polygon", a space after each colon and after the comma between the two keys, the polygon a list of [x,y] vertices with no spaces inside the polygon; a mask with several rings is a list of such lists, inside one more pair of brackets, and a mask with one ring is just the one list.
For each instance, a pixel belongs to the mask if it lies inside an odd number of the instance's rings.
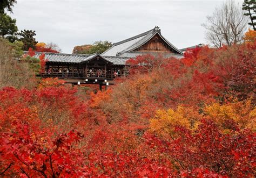
{"label": "yellow-orange foliage patch among red maples, not touching the right edge", "polygon": [[184,126],[194,130],[199,125],[200,115],[192,108],[178,106],[177,110],[158,110],[150,120],[150,130],[160,137],[175,137],[176,126]]}

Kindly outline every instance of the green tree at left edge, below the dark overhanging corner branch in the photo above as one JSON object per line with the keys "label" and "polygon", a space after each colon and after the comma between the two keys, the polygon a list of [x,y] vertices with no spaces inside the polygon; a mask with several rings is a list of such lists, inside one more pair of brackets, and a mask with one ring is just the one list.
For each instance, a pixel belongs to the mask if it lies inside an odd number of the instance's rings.
{"label": "green tree at left edge, below the dark overhanging corner branch", "polygon": [[16,19],[12,19],[6,13],[0,13],[0,36],[14,42],[17,40],[17,31]]}

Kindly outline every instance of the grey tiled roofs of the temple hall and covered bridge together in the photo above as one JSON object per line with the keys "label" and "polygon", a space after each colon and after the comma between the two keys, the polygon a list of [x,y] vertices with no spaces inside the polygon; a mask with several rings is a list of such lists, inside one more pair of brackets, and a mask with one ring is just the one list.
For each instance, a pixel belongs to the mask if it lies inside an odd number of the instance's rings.
{"label": "grey tiled roofs of the temple hall and covered bridge together", "polygon": [[[164,43],[164,45],[170,50],[167,52],[151,52],[151,51],[136,51],[139,47],[146,44],[149,40],[151,40],[156,35],[157,38]],[[196,46],[191,46],[188,48],[194,48],[201,46],[201,44]],[[167,39],[161,35],[161,30],[158,26],[154,27],[153,29],[146,31],[144,33],[140,33],[134,37],[116,42],[111,48],[107,49],[107,51],[103,52],[102,54],[65,54],[65,53],[44,53],[45,59],[49,62],[64,62],[64,63],[80,63],[85,61],[93,60],[97,57],[105,60],[106,62],[110,62],[113,65],[125,65],[125,62],[131,58],[136,58],[138,55],[143,54],[151,54],[154,56],[161,55],[164,58],[183,58],[183,51],[188,48],[178,49],[174,45],[171,44]],[[28,52],[24,52],[28,53]],[[36,58],[39,58],[43,52],[35,52]]]}

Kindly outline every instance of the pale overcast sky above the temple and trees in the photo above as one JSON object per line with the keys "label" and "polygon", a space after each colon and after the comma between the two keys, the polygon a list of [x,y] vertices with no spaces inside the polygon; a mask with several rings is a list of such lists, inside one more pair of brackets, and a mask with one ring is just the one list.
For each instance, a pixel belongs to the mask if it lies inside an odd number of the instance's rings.
{"label": "pale overcast sky above the temple and trees", "polygon": [[118,42],[156,25],[173,45],[184,48],[206,43],[201,24],[223,2],[17,0],[11,17],[19,30],[35,30],[38,42],[54,42],[63,53],[97,40]]}

